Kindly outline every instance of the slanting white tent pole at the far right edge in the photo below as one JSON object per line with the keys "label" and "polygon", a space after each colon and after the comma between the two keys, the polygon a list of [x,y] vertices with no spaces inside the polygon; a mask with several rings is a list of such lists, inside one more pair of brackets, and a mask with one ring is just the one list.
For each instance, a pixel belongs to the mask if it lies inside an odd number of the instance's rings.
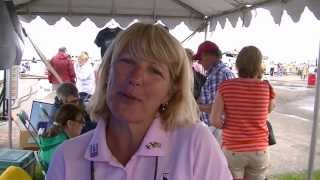
{"label": "slanting white tent pole at the far right edge", "polygon": [[[319,56],[318,61],[320,60],[320,43],[319,43]],[[317,87],[316,87],[316,96],[314,100],[314,113],[313,113],[313,123],[312,123],[312,135],[310,142],[310,152],[309,152],[309,165],[308,165],[308,180],[313,180],[313,170],[314,170],[314,158],[316,156],[316,145],[317,145],[317,135],[318,135],[318,121],[319,121],[319,101],[320,101],[320,63],[318,62],[317,68]]]}

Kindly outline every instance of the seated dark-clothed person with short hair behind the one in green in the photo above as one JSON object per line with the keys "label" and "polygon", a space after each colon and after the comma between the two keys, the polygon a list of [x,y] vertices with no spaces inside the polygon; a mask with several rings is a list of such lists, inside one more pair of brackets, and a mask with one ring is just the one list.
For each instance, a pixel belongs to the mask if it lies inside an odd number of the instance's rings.
{"label": "seated dark-clothed person with short hair behind the one in green", "polygon": [[55,112],[59,109],[59,107],[63,104],[71,103],[79,106],[81,109],[83,109],[83,116],[85,119],[85,126],[82,129],[81,134],[86,133],[96,127],[96,123],[92,122],[90,119],[89,114],[85,110],[85,106],[81,99],[79,99],[78,89],[77,87],[72,83],[62,83],[57,88],[57,96],[54,100],[54,110],[52,112],[53,117],[50,118],[48,127],[51,127],[53,125]]}

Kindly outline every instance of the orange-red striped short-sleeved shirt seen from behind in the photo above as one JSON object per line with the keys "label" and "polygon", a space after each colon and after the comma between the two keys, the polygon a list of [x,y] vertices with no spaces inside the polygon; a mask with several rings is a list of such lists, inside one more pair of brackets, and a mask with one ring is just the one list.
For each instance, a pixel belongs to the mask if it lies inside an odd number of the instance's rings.
{"label": "orange-red striped short-sleeved shirt seen from behind", "polygon": [[222,146],[236,152],[268,146],[267,117],[273,88],[267,81],[237,78],[219,86],[224,101]]}

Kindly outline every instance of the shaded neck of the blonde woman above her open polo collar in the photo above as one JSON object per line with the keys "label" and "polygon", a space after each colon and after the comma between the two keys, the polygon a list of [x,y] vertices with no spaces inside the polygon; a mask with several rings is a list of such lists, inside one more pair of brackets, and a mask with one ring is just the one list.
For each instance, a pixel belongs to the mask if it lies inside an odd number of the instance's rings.
{"label": "shaded neck of the blonde woman above her open polo collar", "polygon": [[111,118],[106,129],[107,145],[112,155],[125,166],[138,150],[150,123],[128,123]]}

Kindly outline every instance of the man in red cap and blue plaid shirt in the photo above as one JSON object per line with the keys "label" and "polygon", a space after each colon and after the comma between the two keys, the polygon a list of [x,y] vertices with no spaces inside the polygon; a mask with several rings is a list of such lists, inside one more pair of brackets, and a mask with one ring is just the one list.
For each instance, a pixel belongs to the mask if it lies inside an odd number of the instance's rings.
{"label": "man in red cap and blue plaid shirt", "polygon": [[[198,60],[206,71],[207,80],[201,87],[197,102],[201,111],[200,120],[208,126],[211,125],[209,114],[219,84],[224,80],[235,77],[229,67],[222,63],[221,57],[222,53],[219,47],[211,41],[205,41],[200,44],[197,54],[193,56],[193,60]],[[214,129],[214,135],[220,140],[220,132],[218,129]]]}

